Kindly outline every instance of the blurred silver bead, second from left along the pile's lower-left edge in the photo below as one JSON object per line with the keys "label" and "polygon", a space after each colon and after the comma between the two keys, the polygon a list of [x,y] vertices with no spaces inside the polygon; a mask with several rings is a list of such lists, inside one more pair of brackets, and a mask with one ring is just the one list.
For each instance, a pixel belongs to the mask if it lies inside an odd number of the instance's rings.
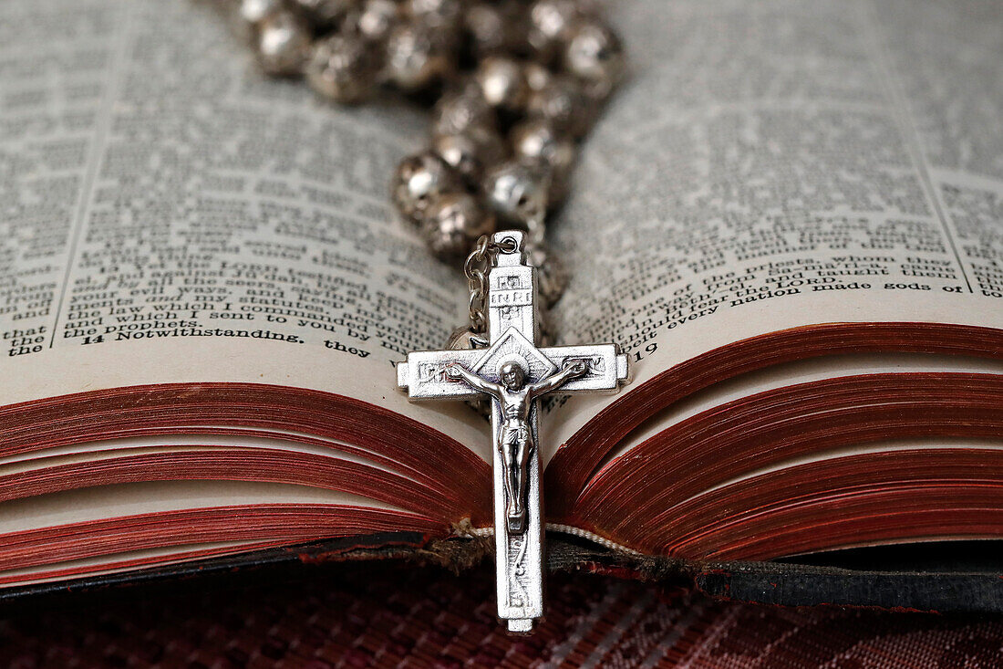
{"label": "blurred silver bead, second from left along the pile's lower-left edge", "polygon": [[358,35],[332,35],[318,42],[305,68],[314,90],[338,102],[365,99],[376,83],[376,71],[373,51]]}

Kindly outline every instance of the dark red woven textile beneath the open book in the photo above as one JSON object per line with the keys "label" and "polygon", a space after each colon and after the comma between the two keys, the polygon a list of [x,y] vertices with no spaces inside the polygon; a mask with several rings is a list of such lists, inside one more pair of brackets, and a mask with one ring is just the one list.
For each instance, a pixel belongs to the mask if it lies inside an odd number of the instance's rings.
{"label": "dark red woven textile beneath the open book", "polygon": [[540,632],[501,633],[492,574],[385,565],[195,581],[0,611],[0,667],[1003,666],[1003,619],[714,602],[556,575]]}

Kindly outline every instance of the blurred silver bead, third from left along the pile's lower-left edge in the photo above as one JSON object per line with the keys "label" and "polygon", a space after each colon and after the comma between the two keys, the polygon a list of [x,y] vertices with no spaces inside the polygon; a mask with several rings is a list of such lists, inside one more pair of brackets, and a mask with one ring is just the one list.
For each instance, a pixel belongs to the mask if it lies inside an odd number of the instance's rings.
{"label": "blurred silver bead, third from left along the pile's lower-left edge", "polygon": [[398,25],[390,31],[384,73],[405,91],[424,88],[450,71],[453,59],[433,31],[415,25]]}

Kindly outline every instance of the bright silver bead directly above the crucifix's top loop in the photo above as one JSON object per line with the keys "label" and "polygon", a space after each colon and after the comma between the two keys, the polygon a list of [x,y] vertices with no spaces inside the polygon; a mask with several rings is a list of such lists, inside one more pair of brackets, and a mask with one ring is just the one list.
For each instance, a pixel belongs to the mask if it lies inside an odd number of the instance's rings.
{"label": "bright silver bead directly above the crucifix's top loop", "polygon": [[487,205],[495,214],[506,221],[530,227],[544,219],[549,186],[546,171],[507,161],[487,171],[483,188]]}

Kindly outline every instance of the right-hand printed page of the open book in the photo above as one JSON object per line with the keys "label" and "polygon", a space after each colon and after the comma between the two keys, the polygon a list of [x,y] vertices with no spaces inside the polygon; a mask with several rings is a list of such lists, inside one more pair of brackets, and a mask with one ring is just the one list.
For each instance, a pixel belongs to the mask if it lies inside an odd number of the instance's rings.
{"label": "right-hand printed page of the open book", "polygon": [[[552,226],[565,342],[619,342],[636,388],[799,325],[1003,326],[998,3],[616,9],[631,78]],[[569,399],[553,441],[607,402]]]}

